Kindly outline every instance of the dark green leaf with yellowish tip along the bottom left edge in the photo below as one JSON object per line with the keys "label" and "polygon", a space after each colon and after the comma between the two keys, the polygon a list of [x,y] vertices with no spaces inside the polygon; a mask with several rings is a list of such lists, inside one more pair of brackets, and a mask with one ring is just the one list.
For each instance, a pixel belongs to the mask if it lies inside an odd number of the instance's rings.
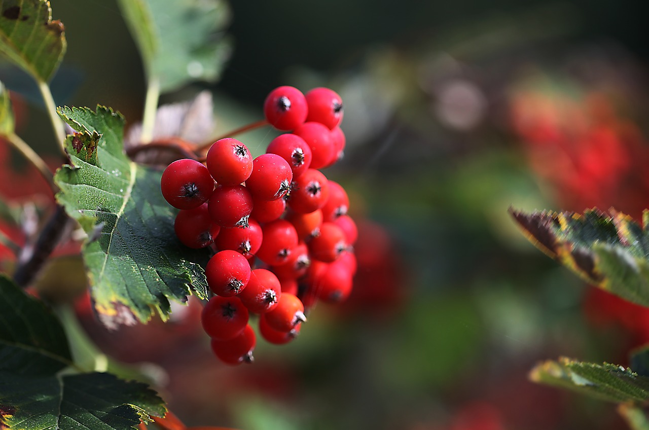
{"label": "dark green leaf with yellowish tip along the bottom left edge", "polygon": [[147,385],[110,373],[36,376],[0,371],[0,424],[8,429],[127,430],[164,414],[164,402]]}

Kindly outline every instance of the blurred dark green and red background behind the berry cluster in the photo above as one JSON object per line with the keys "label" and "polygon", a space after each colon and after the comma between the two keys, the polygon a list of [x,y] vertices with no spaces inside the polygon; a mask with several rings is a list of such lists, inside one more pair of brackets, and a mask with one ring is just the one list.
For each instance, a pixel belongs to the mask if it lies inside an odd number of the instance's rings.
{"label": "blurred dark green and red background behind the berry cluster", "polygon": [[[58,104],[141,118],[138,52],[115,1],[52,0],[68,51]],[[199,303],[171,323],[108,333],[146,364],[188,425],[241,429],[620,429],[614,405],[528,381],[567,355],[627,364],[649,313],[545,257],[509,207],[649,207],[649,47],[639,2],[232,1],[234,51],[212,92],[215,135],[262,118],[291,84],[343,97],[360,269],[347,303],[318,305],[299,338],[256,362],[217,362]],[[5,77],[3,77],[3,80]],[[55,148],[29,98],[19,134]],[[261,129],[240,139],[261,153]],[[14,157],[16,158],[16,157]],[[21,161],[16,160],[21,166]],[[6,191],[10,192],[10,190]]]}

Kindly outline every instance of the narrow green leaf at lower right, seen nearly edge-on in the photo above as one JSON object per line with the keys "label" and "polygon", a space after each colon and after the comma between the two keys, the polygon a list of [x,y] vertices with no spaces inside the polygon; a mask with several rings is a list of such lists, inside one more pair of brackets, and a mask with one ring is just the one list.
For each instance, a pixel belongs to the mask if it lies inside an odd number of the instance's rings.
{"label": "narrow green leaf at lower right, seen nearly edge-on", "polygon": [[561,357],[533,368],[530,379],[615,403],[649,400],[649,377],[615,364],[594,364]]}

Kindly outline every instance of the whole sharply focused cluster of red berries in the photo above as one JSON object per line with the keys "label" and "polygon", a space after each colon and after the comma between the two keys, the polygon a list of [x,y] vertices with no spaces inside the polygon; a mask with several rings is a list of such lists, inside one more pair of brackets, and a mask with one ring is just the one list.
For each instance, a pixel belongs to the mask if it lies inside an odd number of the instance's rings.
{"label": "whole sharply focused cluster of red berries", "polygon": [[205,163],[177,160],[162,174],[162,194],[180,209],[175,231],[188,247],[212,247],[205,274],[214,292],[202,325],[215,355],[252,361],[259,333],[272,344],[295,338],[315,301],[343,301],[352,289],[356,224],[345,189],[319,170],[342,157],[341,98],[329,88],[306,95],[280,86],[265,100],[281,131],[252,158],[235,138],[212,144]]}

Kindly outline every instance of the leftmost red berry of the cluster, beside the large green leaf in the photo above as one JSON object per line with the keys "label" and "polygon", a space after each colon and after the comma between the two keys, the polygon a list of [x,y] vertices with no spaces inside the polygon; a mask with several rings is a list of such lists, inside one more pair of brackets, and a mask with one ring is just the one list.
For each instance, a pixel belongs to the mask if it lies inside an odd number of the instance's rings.
{"label": "leftmost red berry of the cluster, beside the large green leaf", "polygon": [[162,172],[160,190],[167,203],[176,209],[194,209],[212,196],[214,179],[200,162],[183,158]]}

